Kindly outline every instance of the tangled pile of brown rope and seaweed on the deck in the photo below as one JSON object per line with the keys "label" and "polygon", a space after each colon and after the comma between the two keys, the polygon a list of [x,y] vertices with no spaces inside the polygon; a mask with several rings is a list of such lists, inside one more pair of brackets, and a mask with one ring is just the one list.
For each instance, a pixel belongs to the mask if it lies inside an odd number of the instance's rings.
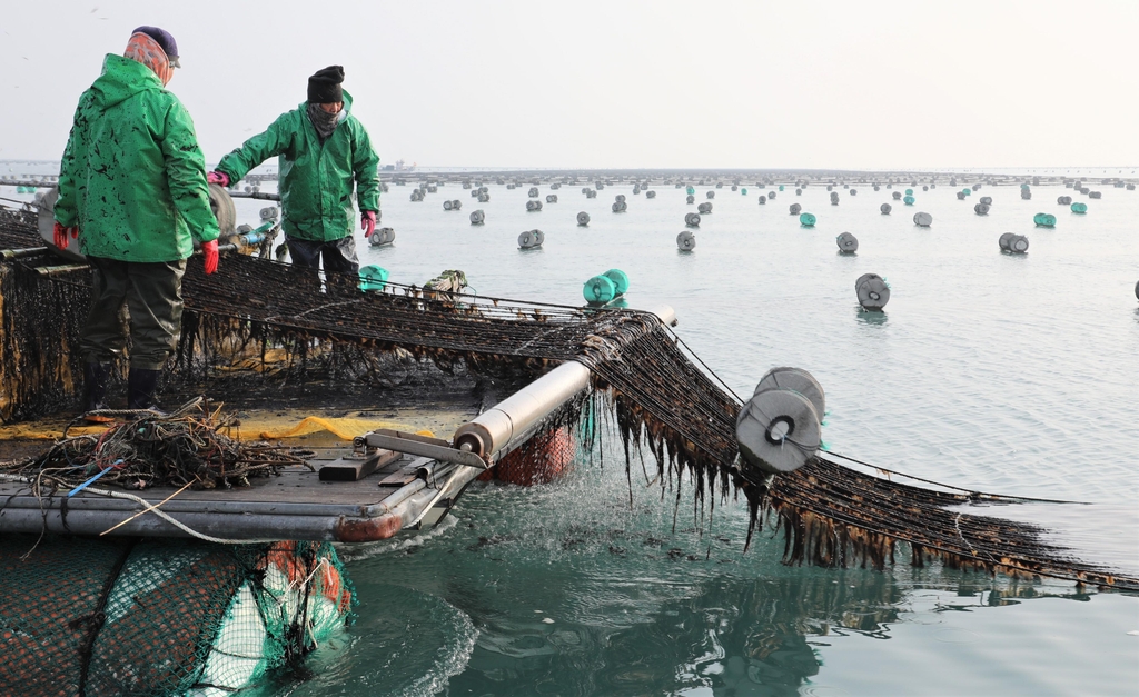
{"label": "tangled pile of brown rope and seaweed on the deck", "polygon": [[67,437],[65,430],[43,454],[0,462],[0,472],[33,479],[36,494],[43,495],[95,478],[100,485],[130,490],[230,489],[248,486],[249,477],[268,477],[281,467],[312,469],[303,458],[311,452],[230,438],[222,430],[236,421],[220,417],[220,411],[191,403],[170,415],[137,411],[99,435]]}

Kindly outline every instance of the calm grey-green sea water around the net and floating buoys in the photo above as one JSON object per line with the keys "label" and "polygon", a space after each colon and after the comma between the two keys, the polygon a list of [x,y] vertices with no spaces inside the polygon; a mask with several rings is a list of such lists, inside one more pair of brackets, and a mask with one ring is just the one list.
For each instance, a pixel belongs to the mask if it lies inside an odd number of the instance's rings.
{"label": "calm grey-green sea water around the net and floating buoys", "polygon": [[[392,281],[461,269],[484,295],[581,304],[587,279],[620,268],[630,306],[672,305],[679,336],[737,394],[768,368],[809,369],[827,390],[833,451],[968,489],[1091,502],[960,508],[1052,528],[1081,557],[1139,568],[1139,192],[1100,187],[1076,215],[1056,204],[1073,195],[1062,183],[1032,186],[1027,200],[1018,186],[968,200],[960,187],[919,186],[912,207],[885,187],[837,187],[833,206],[812,182],[760,206],[753,187],[697,186],[697,202],[715,191],[714,211],[681,253],[675,237],[695,210],[685,189],[647,199],[615,183],[587,199],[584,183],[543,183],[542,200],[559,199],[531,213],[528,182],[489,180],[474,227],[468,210],[442,207],[470,200],[458,183],[411,203],[408,181],[382,197],[394,245],[361,248],[361,263]],[[628,212],[611,211],[616,194]],[[988,215],[974,213],[978,196],[993,198]],[[792,203],[817,216],[813,228],[788,215]],[[238,206],[255,213],[260,202]],[[917,211],[929,228],[913,224]],[[1033,224],[1040,212],[1055,228]],[[532,229],[544,244],[518,249]],[[842,232],[857,254],[838,253]],[[1029,252],[1002,253],[1006,232],[1026,236]],[[884,312],[859,308],[854,281],[868,272],[891,287]],[[708,520],[686,484],[674,508],[649,485],[650,464],[642,474],[634,458],[626,481],[621,450],[603,442],[548,486],[476,485],[423,538],[342,550],[355,626],[317,651],[312,676],[261,694],[1118,695],[1139,684],[1134,596],[901,558],[883,572],[782,566],[769,526],[741,554],[743,501],[718,502]]]}

